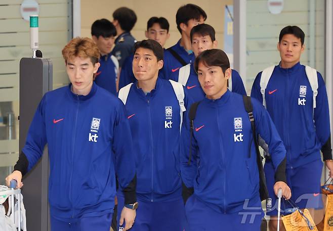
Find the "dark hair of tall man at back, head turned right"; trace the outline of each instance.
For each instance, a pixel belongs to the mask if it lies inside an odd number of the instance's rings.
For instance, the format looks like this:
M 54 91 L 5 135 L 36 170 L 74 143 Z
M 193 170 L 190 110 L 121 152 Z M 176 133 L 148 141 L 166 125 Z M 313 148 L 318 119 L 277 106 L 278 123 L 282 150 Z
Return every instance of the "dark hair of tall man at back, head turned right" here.
M 185 23 L 187 25 L 189 20 L 199 20 L 201 16 L 204 21 L 207 19 L 206 13 L 199 6 L 194 4 L 186 4 L 181 6 L 176 14 L 177 29 L 180 33 L 182 33 L 182 29 L 180 28 L 181 23 Z

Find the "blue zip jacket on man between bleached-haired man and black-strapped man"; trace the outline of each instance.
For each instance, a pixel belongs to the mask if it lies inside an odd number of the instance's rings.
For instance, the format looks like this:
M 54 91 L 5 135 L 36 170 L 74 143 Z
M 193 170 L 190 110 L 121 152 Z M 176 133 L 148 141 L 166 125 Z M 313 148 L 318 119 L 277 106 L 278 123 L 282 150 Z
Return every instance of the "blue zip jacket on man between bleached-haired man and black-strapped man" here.
M 187 108 L 192 102 L 184 93 Z M 137 162 L 137 197 L 154 202 L 180 199 L 180 106 L 171 83 L 158 77 L 155 89 L 145 95 L 135 82 L 125 107 Z

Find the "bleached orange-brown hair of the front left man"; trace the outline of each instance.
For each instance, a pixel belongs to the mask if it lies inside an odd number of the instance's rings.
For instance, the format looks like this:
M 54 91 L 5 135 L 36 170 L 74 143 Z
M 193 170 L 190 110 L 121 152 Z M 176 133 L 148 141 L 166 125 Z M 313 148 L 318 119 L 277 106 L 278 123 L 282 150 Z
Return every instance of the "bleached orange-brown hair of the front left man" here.
M 70 40 L 64 49 L 62 49 L 62 56 L 67 62 L 75 57 L 90 58 L 93 65 L 99 62 L 100 52 L 93 39 L 76 37 Z

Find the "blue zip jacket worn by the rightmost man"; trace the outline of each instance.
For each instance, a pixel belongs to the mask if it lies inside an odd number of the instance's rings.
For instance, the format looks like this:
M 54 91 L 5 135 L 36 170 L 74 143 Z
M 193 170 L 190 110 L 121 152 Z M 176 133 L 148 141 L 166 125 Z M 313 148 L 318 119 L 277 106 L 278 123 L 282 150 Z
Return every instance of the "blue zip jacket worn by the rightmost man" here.
M 263 102 L 260 72 L 252 86 L 251 96 Z M 324 80 L 319 72 L 318 95 L 313 114 L 313 91 L 305 66 L 292 68 L 277 65 L 268 82 L 265 98 L 269 112 L 287 151 L 287 168 L 295 168 L 320 159 L 332 159 L 328 100 Z M 300 88 L 306 86 L 301 97 Z M 305 96 L 305 97 L 303 97 Z M 305 99 L 305 101 L 303 101 Z

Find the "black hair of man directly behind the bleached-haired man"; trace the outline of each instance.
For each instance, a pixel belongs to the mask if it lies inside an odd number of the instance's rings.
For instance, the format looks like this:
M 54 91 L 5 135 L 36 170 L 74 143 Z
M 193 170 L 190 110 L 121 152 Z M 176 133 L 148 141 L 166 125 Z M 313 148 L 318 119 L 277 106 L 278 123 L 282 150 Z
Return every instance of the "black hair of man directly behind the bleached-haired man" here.
M 91 26 L 91 35 L 94 35 L 97 38 L 99 38 L 99 36 L 108 38 L 111 36 L 116 36 L 117 31 L 116 31 L 114 25 L 112 24 L 112 22 L 103 18 L 103 19 L 96 20 L 93 23 L 93 25 Z

